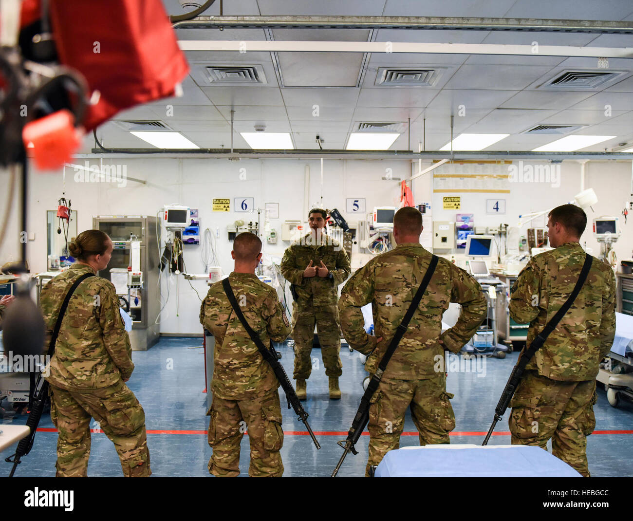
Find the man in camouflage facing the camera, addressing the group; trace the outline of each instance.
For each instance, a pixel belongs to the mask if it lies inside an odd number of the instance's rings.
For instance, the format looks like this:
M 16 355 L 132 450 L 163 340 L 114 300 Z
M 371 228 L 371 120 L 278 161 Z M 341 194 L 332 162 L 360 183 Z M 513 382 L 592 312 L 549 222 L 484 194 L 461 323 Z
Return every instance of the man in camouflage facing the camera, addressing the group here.
M 339 284 L 349 277 L 351 268 L 341 244 L 323 232 L 325 214 L 320 208 L 310 210 L 310 234 L 292 243 L 281 262 L 281 273 L 296 292 L 292 310 L 292 377 L 297 380 L 297 396 L 303 400 L 306 399 L 306 380 L 312 371 L 310 353 L 315 323 L 325 375 L 329 377 L 330 398 L 341 398 L 341 322 L 336 304 Z

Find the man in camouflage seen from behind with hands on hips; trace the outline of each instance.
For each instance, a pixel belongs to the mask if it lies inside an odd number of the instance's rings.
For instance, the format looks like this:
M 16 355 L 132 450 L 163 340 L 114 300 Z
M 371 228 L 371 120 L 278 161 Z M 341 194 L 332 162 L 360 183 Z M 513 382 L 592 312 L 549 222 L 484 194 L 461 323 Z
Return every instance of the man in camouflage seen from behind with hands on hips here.
M 429 268 L 432 254 L 419 243 L 421 232 L 418 210 L 398 210 L 394 216 L 398 247 L 370 260 L 341 292 L 343 335 L 356 351 L 368 355 L 365 369 L 370 374 L 377 370 Z M 462 305 L 461 315 L 442 334 L 442 313 L 451 302 Z M 363 327 L 361 307 L 369 303 L 375 337 Z M 420 445 L 450 443 L 449 432 L 455 427 L 449 401 L 453 394 L 446 392 L 444 369 L 436 371 L 437 357 L 444 359 L 444 349 L 458 353 L 485 316 L 481 286 L 464 270 L 439 258 L 427 291 L 370 400 L 367 474 L 388 451 L 399 448 L 408 407 L 420 432 Z

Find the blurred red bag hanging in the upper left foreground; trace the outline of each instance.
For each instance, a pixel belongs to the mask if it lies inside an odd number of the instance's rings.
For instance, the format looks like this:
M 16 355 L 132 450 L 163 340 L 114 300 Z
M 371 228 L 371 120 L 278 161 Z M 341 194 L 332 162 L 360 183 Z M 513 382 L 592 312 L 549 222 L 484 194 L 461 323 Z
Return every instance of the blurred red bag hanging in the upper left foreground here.
M 60 62 L 101 93 L 85 112 L 88 131 L 120 110 L 173 96 L 189 72 L 160 0 L 51 0 L 49 12 Z

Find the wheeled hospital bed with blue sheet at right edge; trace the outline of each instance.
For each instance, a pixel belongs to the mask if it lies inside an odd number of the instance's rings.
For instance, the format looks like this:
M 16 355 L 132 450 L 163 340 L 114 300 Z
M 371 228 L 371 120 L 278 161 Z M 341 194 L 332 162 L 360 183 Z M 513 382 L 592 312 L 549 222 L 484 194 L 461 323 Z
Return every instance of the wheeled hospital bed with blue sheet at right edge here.
M 596 380 L 605 385 L 606 398 L 617 407 L 623 396 L 633 399 L 633 316 L 615 313 L 615 338 L 608 358 L 600 364 Z

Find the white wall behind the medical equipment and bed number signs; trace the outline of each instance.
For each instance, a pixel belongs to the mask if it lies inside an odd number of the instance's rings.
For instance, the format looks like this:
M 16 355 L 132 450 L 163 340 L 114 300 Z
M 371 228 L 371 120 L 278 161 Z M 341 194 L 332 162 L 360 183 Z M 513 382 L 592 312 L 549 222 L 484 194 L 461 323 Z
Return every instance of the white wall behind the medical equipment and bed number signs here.
M 84 160 L 76 160 L 83 165 Z M 91 160 L 98 165 L 98 160 Z M 156 215 L 167 203 L 180 203 L 199 209 L 201 231 L 209 227 L 215 233 L 219 229 L 218 249 L 220 263 L 225 273 L 232 269 L 230 258 L 231 244 L 227 239 L 227 225 L 242 218 L 248 222 L 256 220 L 256 213 L 220 213 L 211 211 L 211 199 L 230 198 L 232 208 L 234 198 L 254 197 L 256 206 L 263 208 L 264 203 L 278 202 L 280 216 L 272 220 L 271 225 L 281 232 L 281 224 L 287 219 L 306 220 L 304 213 L 304 168 L 310 166 L 309 206 L 321 203 L 320 161 L 303 160 L 201 160 L 170 158 L 122 158 L 104 160 L 104 164 L 125 165 L 129 177 L 145 179 L 146 184 L 127 181 L 125 187 L 103 182 L 75 182 L 75 172 L 66 169 L 66 198 L 72 201 L 72 209 L 78 212 L 78 230 L 92 227 L 95 215 Z M 422 168 L 430 163 L 423 162 Z M 414 169 L 417 171 L 417 161 Z M 241 169 L 244 168 L 244 171 Z M 391 168 L 391 172 L 387 170 Z M 399 205 L 400 182 L 382 180 L 391 173 L 394 178 L 405 179 L 411 175 L 410 161 L 396 160 L 325 160 L 323 173 L 323 206 L 338 208 L 354 226 L 358 215 L 346 213 L 346 198 L 365 198 L 367 210 L 379 205 Z M 456 213 L 475 213 L 476 225 L 492 226 L 499 222 L 515 224 L 520 213 L 545 210 L 551 206 L 564 204 L 573 199 L 580 191 L 580 165 L 564 161 L 561 185 L 553 188 L 540 184 L 516 184 L 511 193 L 506 194 L 506 215 L 486 215 L 485 200 L 487 194 L 461 194 L 461 210 L 442 210 L 442 194 L 431 196 L 432 173 L 415 181 L 413 193 L 416 203 L 432 201 L 434 220 L 454 220 Z M 624 200 L 630 188 L 630 163 L 590 162 L 587 164 L 586 187 L 593 187 L 598 195 L 598 204 L 594 206 L 600 215 L 620 215 Z M 242 179 L 240 174 L 242 173 Z M 244 173 L 246 179 L 244 179 Z M 0 185 L 8 186 L 8 173 L 0 173 Z M 29 190 L 29 232 L 35 232 L 35 241 L 28 242 L 28 259 L 32 272 L 46 270 L 46 210 L 56 209 L 58 198 L 63 190 L 62 174 L 32 172 Z M 6 205 L 6 192 L 0 196 L 0 215 Z M 0 265 L 19 256 L 18 216 L 20 215 L 18 192 L 9 220 L 9 230 L 3 244 L 0 245 Z M 633 215 L 629 224 L 623 225 L 623 234 L 615 244 L 618 259 L 630 258 L 633 249 Z M 261 219 L 263 224 L 263 217 Z M 426 230 L 432 230 L 429 218 L 425 218 Z M 581 241 L 599 252 L 591 230 L 583 235 Z M 288 243 L 280 240 L 275 245 L 264 244 L 264 253 L 280 258 Z M 158 255 L 158 252 L 155 253 Z M 185 245 L 185 263 L 191 273 L 203 272 L 201 246 Z M 163 333 L 199 333 L 199 300 L 182 276 L 171 275 L 163 282 L 163 295 L 166 284 L 170 284 L 170 299 L 161 322 Z M 201 296 L 206 294 L 206 282 L 193 281 Z M 176 288 L 178 291 L 176 291 Z M 176 299 L 176 295 L 178 299 Z M 178 306 L 178 307 L 177 307 Z M 177 316 L 178 315 L 178 316 Z

